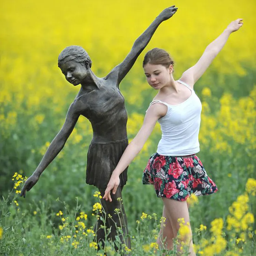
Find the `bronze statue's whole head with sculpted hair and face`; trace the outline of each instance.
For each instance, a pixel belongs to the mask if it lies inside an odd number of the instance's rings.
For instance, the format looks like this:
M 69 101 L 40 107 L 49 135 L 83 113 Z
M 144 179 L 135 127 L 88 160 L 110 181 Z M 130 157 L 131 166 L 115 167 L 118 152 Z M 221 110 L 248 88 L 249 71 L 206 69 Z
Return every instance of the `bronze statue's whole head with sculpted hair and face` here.
M 66 47 L 58 57 L 58 67 L 66 80 L 74 86 L 81 84 L 91 68 L 91 59 L 81 46 Z

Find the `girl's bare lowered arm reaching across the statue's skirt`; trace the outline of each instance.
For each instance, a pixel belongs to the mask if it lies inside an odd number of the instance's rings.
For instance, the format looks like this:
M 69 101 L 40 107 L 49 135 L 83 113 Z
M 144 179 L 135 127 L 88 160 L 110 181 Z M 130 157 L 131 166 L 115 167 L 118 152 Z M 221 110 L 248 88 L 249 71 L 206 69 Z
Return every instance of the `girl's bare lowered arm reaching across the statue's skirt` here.
M 147 138 L 153 131 L 157 120 L 161 116 L 166 115 L 166 112 L 167 107 L 165 105 L 162 105 L 161 103 L 153 104 L 147 110 L 141 129 L 139 130 L 135 138 L 131 141 L 131 143 L 127 146 L 115 170 L 111 175 L 103 199 L 105 199 L 106 201 L 110 200 L 110 202 L 112 201 L 110 192 L 113 189 L 112 193 L 116 193 L 116 189 L 120 183 L 119 175 L 126 169 L 126 167 L 134 159 L 134 157 L 139 154 Z

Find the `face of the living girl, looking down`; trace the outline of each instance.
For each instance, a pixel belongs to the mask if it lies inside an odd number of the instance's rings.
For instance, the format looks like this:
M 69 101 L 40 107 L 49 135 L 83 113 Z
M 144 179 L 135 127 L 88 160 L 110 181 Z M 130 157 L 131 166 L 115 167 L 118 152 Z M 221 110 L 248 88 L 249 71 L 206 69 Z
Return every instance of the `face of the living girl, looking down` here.
M 170 82 L 172 73 L 172 65 L 166 68 L 163 65 L 152 65 L 147 63 L 144 67 L 144 72 L 147 78 L 147 82 L 154 89 L 158 90 L 166 86 Z

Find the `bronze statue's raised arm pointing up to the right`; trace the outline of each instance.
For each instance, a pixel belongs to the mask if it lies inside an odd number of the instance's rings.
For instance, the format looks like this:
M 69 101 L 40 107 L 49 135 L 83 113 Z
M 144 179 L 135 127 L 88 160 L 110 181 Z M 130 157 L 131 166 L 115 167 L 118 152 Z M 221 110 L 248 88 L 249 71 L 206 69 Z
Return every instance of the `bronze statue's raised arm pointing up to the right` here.
M 158 26 L 164 21 L 173 16 L 178 8 L 175 5 L 163 10 L 151 23 L 151 25 L 140 35 L 134 42 L 131 51 L 126 56 L 123 62 L 117 65 L 110 74 L 117 74 L 117 85 L 123 80 L 129 70 L 132 68 L 134 62 L 137 60 L 143 49 L 147 46 Z M 109 75 L 110 75 L 109 74 Z

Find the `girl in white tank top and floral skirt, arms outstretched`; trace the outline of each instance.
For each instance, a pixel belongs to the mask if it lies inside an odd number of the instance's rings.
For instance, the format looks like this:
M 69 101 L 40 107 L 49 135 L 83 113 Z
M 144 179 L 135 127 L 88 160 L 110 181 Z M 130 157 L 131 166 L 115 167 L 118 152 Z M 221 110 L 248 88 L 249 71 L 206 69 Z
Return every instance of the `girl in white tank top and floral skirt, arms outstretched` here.
M 159 91 L 146 111 L 140 131 L 128 145 L 113 171 L 103 199 L 112 201 L 111 196 L 119 186 L 119 175 L 141 151 L 158 121 L 162 138 L 157 152 L 148 160 L 142 182 L 153 184 L 157 197 L 163 200 L 162 216 L 166 218 L 166 223 L 161 225 L 157 243 L 162 246 L 162 241 L 165 240 L 168 249 L 172 248 L 172 239 L 177 236 L 180 227 L 178 219 L 184 218 L 185 223 L 189 223 L 186 199 L 192 193 L 203 196 L 218 191 L 196 156 L 199 152 L 198 134 L 202 105 L 195 94 L 194 84 L 221 51 L 229 35 L 242 25 L 242 19 L 231 22 L 223 33 L 206 47 L 196 65 L 186 70 L 177 81 L 172 76 L 174 62 L 166 51 L 154 48 L 146 53 L 143 60 L 148 84 Z M 196 255 L 191 228 L 190 234 L 183 240 L 187 241 L 188 238 L 189 253 Z

